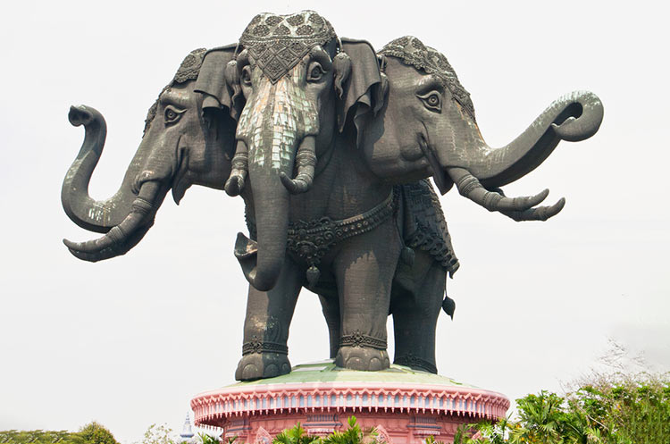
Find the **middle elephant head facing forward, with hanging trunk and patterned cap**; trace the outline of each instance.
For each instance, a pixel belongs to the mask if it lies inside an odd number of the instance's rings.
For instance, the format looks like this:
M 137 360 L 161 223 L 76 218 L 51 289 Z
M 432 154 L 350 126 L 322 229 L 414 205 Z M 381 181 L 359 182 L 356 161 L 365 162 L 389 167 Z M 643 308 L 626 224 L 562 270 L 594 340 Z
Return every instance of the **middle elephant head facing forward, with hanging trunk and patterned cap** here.
M 239 237 L 236 255 L 261 291 L 275 285 L 286 255 L 289 199 L 310 189 L 349 111 L 370 105 L 381 86 L 372 47 L 343 43 L 318 13 L 255 16 L 226 68 L 239 113 L 237 147 L 226 191 L 253 196 L 253 241 Z M 295 177 L 294 177 L 295 172 Z

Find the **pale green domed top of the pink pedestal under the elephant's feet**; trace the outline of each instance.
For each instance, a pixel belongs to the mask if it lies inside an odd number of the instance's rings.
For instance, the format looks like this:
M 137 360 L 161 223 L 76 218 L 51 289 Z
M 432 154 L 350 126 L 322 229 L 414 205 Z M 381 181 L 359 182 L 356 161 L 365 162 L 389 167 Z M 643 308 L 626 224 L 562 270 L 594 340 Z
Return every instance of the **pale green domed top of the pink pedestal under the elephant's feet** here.
M 404 365 L 391 364 L 380 372 L 359 372 L 337 367 L 332 359 L 296 365 L 291 373 L 257 381 L 243 381 L 228 387 L 249 387 L 265 384 L 290 384 L 297 382 L 399 382 L 408 384 L 436 384 L 475 388 L 473 385 L 454 381 L 447 376 L 412 370 Z

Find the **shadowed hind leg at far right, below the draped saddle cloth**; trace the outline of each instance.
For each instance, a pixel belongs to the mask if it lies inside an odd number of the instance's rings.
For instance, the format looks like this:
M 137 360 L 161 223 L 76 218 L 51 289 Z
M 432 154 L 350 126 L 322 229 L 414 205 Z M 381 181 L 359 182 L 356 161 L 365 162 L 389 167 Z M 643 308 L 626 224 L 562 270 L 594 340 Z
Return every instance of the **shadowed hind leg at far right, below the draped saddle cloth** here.
M 398 289 L 398 294 L 394 288 L 391 301 L 396 340 L 393 364 L 437 373 L 435 329 L 442 307 L 447 274 L 425 252 L 417 252 L 411 274 L 412 279 L 404 280 L 403 288 Z

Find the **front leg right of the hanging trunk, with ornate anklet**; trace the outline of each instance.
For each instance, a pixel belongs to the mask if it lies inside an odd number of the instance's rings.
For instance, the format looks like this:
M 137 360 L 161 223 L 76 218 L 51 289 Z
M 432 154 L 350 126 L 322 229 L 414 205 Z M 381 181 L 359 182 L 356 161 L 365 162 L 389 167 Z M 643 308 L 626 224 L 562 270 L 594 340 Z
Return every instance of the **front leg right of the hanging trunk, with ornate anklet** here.
M 342 313 L 335 364 L 352 370 L 389 368 L 386 320 L 401 242 L 394 221 L 348 239 L 334 269 Z

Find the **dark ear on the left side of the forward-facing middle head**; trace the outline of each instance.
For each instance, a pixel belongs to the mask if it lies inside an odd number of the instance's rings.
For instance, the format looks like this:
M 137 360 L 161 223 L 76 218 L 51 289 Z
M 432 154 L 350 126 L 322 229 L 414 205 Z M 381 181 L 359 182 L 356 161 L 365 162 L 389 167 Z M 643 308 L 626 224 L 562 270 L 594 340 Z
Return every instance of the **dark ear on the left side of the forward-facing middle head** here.
M 236 45 L 220 46 L 205 54 L 200 74 L 194 90 L 203 95 L 203 115 L 216 115 L 214 121 L 222 122 L 223 131 L 235 134 L 239 105 L 235 105 L 235 95 L 226 82 L 225 69 L 235 58 Z M 235 144 L 226 147 L 226 154 L 232 158 Z

